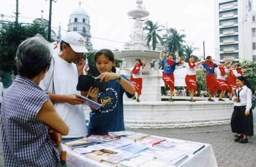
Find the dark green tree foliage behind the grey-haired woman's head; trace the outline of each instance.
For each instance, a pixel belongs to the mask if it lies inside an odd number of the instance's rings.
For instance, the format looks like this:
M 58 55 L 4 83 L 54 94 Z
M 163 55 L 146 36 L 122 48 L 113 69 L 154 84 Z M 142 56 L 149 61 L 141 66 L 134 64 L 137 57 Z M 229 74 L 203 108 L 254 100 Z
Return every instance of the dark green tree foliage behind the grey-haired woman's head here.
M 29 37 L 37 33 L 47 38 L 45 27 L 39 24 L 22 24 L 10 22 L 3 24 L 0 31 L 0 71 L 17 75 L 15 56 L 18 45 Z M 7 79 L 2 75 L 3 80 Z M 7 85 L 8 86 L 8 85 Z

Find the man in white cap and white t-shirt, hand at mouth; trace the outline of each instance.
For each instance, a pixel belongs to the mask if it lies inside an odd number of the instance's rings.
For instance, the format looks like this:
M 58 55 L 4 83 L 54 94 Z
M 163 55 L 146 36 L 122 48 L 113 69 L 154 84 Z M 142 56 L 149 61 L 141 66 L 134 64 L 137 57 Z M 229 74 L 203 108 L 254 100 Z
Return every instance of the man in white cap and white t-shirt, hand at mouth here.
M 86 117 L 83 111 L 85 100 L 75 97 L 78 76 L 83 74 L 83 54 L 88 52 L 85 40 L 77 32 L 67 32 L 60 42 L 60 53 L 53 56 L 49 71 L 40 87 L 48 92 L 60 117 L 69 126 L 69 134 L 63 140 L 87 135 Z

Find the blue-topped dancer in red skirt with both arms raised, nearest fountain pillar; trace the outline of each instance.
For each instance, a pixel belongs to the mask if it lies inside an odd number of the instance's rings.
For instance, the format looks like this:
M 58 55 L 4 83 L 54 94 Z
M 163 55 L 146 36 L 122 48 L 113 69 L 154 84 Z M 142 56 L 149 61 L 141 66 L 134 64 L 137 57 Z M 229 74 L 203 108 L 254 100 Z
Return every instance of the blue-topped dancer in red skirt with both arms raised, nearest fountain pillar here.
M 173 55 L 168 55 L 167 60 L 163 58 L 163 52 L 162 50 L 160 52 L 159 59 L 163 62 L 164 66 L 164 72 L 163 72 L 163 81 L 164 85 L 169 85 L 170 86 L 170 102 L 173 102 L 172 97 L 173 97 L 173 90 L 174 90 L 174 75 L 173 72 L 175 70 L 176 64 L 180 63 L 183 60 L 183 57 L 179 59 L 178 61 L 173 60 Z

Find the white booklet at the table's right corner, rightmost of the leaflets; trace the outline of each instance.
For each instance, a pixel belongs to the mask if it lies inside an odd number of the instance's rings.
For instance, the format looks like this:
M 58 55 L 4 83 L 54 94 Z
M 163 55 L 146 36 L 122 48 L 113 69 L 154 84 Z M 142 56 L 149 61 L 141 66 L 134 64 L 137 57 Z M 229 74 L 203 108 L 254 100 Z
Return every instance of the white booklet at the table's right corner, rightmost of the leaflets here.
M 198 151 L 200 151 L 204 147 L 205 147 L 204 144 L 185 141 L 183 143 L 177 144 L 172 149 L 181 150 L 188 154 L 196 154 Z

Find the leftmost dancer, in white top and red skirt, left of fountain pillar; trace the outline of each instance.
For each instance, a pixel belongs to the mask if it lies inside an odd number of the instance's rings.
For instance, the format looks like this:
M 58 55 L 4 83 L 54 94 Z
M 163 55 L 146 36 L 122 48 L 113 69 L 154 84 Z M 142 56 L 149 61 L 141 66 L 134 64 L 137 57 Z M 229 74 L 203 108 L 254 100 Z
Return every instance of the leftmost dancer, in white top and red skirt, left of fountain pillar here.
M 124 70 L 131 71 L 131 84 L 135 87 L 135 90 L 137 92 L 137 102 L 140 102 L 139 97 L 141 95 L 141 89 L 142 89 L 142 70 L 145 67 L 146 60 L 143 60 L 141 63 L 140 59 L 136 59 L 135 66 L 131 68 L 125 68 Z M 136 99 L 134 95 L 134 99 Z

